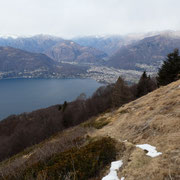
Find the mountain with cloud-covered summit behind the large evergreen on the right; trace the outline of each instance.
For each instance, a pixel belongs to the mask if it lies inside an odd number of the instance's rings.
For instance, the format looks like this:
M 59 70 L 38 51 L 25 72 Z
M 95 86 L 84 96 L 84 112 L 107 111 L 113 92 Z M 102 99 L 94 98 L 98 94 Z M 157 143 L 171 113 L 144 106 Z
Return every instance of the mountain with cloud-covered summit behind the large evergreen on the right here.
M 120 69 L 157 71 L 167 54 L 180 48 L 180 37 L 160 34 L 146 37 L 133 44 L 121 47 L 109 58 L 107 66 Z

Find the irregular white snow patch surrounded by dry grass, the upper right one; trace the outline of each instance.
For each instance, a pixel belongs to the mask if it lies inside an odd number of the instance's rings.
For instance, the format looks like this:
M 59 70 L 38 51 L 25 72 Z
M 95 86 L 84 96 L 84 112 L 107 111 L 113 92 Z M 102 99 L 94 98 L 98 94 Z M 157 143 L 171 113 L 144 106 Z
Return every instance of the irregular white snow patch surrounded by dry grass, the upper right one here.
M 146 155 L 150 157 L 157 157 L 162 154 L 161 152 L 156 151 L 156 147 L 151 146 L 149 144 L 139 144 L 139 145 L 136 145 L 136 147 L 148 151 Z

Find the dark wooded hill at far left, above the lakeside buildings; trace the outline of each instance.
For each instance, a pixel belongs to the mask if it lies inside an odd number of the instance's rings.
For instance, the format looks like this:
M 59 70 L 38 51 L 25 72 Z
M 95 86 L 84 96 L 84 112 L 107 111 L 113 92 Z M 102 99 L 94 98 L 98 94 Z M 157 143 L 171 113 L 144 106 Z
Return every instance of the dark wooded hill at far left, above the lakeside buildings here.
M 32 71 L 53 68 L 55 62 L 46 55 L 12 47 L 0 47 L 0 71 Z

